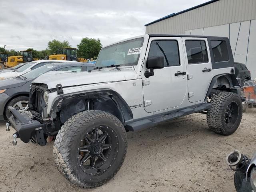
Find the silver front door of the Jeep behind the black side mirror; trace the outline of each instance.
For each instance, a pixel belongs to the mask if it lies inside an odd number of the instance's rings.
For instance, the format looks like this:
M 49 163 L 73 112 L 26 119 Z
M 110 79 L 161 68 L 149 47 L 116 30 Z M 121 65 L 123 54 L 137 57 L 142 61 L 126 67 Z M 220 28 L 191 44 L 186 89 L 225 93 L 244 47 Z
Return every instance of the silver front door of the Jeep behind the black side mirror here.
M 146 78 L 142 73 L 144 108 L 156 112 L 178 107 L 186 95 L 186 63 L 183 57 L 182 38 L 150 38 L 147 58 L 164 56 L 164 68 L 155 69 L 154 76 Z M 143 68 L 146 68 L 144 64 Z

